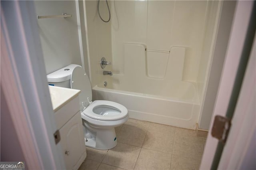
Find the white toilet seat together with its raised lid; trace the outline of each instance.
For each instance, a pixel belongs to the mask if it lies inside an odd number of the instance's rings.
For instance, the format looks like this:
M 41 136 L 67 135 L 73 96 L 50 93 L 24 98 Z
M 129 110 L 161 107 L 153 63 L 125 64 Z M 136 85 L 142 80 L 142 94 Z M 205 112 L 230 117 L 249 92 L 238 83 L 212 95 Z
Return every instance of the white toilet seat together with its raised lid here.
M 97 121 L 117 121 L 127 117 L 128 110 L 119 103 L 105 100 L 92 102 L 92 87 L 82 67 L 74 68 L 70 80 L 71 89 L 81 90 L 79 94 L 81 115 Z

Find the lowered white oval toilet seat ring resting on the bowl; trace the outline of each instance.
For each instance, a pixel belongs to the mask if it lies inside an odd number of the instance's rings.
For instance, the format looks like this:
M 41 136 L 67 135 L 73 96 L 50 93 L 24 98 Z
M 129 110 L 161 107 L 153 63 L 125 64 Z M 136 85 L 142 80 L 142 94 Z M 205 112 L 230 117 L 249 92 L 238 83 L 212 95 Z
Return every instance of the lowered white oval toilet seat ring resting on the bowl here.
M 128 110 L 116 102 L 96 100 L 82 114 L 101 121 L 115 121 L 127 117 Z

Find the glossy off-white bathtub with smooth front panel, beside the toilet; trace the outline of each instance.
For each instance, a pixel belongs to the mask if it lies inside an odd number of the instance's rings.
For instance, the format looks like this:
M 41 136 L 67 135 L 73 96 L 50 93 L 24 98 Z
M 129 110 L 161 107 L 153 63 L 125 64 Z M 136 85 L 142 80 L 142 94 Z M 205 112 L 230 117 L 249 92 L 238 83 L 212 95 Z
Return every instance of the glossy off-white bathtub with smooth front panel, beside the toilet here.
M 130 118 L 182 128 L 196 127 L 200 105 L 171 99 L 98 87 L 92 89 L 93 100 L 109 100 L 124 105 Z

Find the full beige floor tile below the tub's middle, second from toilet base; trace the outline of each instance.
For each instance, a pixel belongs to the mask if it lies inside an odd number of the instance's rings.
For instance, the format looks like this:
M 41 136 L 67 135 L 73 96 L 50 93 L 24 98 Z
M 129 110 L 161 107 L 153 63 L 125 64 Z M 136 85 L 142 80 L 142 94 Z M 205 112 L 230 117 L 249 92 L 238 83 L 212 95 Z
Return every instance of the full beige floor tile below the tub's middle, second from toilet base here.
M 175 127 L 150 123 L 142 148 L 172 153 Z

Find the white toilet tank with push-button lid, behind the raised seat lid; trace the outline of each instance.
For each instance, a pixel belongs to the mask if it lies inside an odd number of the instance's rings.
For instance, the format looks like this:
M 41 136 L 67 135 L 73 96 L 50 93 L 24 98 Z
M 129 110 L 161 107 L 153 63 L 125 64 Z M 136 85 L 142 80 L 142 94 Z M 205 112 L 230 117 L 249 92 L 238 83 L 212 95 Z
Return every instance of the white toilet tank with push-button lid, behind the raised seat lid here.
M 49 85 L 70 88 L 70 78 L 75 67 L 81 67 L 77 64 L 70 64 L 64 68 L 54 71 L 47 75 Z

